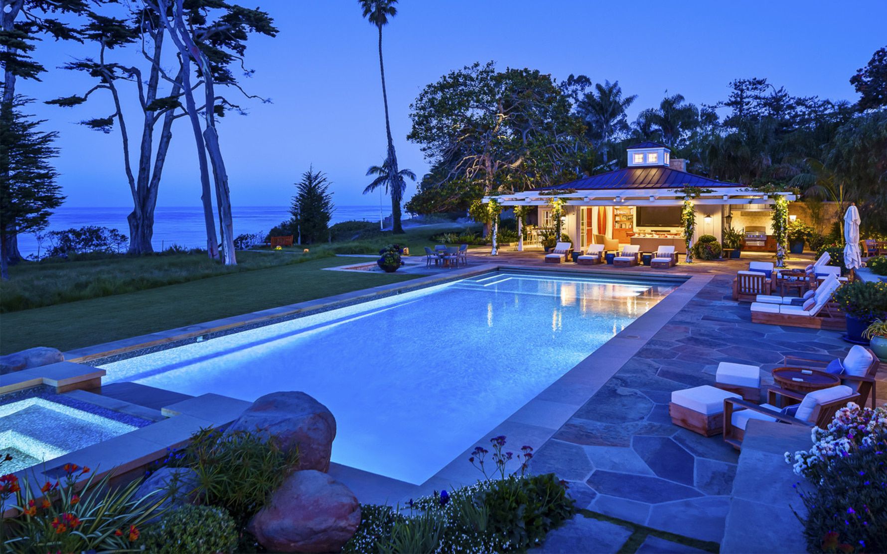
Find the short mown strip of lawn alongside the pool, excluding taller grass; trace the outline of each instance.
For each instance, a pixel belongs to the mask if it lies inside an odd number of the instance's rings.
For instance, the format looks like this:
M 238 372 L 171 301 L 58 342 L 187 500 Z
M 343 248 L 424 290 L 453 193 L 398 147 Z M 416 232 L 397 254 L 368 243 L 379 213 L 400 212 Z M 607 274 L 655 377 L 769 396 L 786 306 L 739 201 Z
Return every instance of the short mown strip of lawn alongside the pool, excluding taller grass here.
M 326 257 L 3 314 L 0 354 L 36 346 L 87 347 L 417 277 L 323 270 L 347 263 Z

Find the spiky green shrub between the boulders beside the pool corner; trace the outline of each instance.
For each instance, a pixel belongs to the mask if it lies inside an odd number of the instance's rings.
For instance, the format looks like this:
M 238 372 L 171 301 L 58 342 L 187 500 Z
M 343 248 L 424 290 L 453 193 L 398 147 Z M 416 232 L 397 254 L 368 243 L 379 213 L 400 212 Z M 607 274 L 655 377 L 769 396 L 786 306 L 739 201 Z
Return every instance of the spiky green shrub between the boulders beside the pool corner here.
M 222 506 L 239 525 L 262 509 L 298 462 L 298 454 L 255 433 L 201 429 L 167 462 L 197 472 L 202 503 Z

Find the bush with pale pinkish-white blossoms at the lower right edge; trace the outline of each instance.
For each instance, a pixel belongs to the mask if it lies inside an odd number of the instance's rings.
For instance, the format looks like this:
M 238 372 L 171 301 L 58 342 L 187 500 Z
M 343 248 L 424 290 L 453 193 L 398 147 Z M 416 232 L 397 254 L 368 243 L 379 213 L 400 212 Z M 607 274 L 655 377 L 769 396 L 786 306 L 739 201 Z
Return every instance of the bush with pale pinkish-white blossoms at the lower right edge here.
M 812 439 L 809 451 L 786 453 L 815 487 L 799 493 L 808 550 L 887 551 L 887 409 L 850 402 Z

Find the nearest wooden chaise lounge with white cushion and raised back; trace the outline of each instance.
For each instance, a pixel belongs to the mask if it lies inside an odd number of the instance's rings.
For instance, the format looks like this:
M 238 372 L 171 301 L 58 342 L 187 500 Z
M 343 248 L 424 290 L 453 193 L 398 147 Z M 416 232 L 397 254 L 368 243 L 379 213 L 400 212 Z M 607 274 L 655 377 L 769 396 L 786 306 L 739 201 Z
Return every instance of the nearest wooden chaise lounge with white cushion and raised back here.
M 751 304 L 751 321 L 756 324 L 843 331 L 847 328 L 847 320 L 831 304 L 832 295 L 840 285 L 837 277 L 828 276 L 817 289 L 822 291 L 805 300 L 801 306 L 754 302 Z

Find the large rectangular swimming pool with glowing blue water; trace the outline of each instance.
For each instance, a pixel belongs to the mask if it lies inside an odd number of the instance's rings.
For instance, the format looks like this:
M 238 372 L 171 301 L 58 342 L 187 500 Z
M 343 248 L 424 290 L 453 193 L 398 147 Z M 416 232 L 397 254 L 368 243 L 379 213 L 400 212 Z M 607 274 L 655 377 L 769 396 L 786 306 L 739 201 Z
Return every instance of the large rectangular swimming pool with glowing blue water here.
M 419 484 L 622 331 L 674 281 L 496 271 L 107 363 L 105 383 L 333 412 L 333 461 Z

